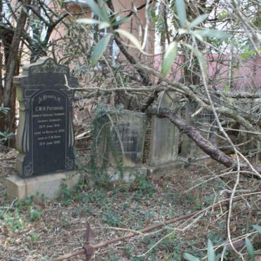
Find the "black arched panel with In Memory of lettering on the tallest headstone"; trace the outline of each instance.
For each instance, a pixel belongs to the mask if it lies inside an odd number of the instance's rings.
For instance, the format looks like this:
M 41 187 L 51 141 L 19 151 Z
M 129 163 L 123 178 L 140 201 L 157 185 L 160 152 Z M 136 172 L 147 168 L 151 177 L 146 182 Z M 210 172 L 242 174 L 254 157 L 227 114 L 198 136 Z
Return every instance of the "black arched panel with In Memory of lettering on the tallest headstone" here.
M 32 99 L 32 162 L 36 172 L 44 168 L 46 172 L 65 168 L 66 105 L 65 95 L 58 91 L 41 91 Z M 46 162 L 53 164 L 46 166 Z

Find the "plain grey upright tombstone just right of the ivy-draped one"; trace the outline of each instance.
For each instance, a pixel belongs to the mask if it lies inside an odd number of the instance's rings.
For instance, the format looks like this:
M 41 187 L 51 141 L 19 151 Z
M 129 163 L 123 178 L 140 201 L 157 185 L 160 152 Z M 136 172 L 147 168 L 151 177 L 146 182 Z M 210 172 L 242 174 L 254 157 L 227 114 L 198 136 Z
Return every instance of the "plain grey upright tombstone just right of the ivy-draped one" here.
M 175 109 L 173 92 L 161 92 L 157 107 Z M 178 142 L 180 132 L 169 119 L 159 119 L 152 116 L 151 145 L 149 164 L 152 166 L 175 161 L 178 157 Z

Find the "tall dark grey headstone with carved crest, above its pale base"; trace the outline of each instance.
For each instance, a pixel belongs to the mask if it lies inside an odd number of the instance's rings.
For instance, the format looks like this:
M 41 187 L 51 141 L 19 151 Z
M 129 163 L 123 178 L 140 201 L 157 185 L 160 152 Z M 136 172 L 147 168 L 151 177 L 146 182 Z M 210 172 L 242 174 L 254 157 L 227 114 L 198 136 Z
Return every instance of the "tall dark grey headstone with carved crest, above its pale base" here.
M 69 68 L 44 57 L 14 77 L 19 101 L 17 170 L 22 178 L 74 170 L 72 89 Z

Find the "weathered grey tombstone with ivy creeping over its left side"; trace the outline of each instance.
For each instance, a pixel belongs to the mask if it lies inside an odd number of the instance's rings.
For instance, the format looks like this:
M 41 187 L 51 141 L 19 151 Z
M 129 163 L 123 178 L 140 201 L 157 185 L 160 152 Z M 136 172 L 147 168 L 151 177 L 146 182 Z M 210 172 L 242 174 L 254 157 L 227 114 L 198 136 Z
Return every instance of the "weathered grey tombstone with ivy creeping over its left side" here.
M 131 180 L 135 173 L 146 173 L 142 168 L 147 116 L 145 113 L 128 111 L 112 114 L 107 128 L 100 137 L 100 159 L 107 159 L 107 173 L 111 180 Z M 133 176 L 134 178 L 134 176 Z

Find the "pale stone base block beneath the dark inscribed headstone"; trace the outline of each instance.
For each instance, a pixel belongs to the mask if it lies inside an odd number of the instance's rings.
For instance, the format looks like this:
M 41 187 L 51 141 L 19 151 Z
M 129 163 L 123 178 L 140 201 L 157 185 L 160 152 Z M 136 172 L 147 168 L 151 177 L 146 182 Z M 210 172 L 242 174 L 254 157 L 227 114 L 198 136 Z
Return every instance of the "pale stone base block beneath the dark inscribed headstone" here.
M 6 193 L 9 198 L 25 199 L 36 196 L 55 199 L 60 195 L 60 185 L 65 183 L 71 189 L 79 180 L 76 171 L 55 173 L 33 178 L 20 178 L 14 175 L 6 178 Z

